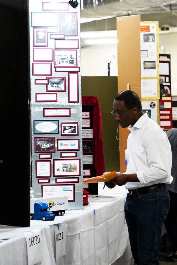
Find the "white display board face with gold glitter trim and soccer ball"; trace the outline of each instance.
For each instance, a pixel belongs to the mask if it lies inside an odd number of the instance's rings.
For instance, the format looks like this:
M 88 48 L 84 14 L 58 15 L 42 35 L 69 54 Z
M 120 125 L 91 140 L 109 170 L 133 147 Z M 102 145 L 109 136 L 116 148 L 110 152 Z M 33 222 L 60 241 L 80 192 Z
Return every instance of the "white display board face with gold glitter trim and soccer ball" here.
M 160 125 L 158 21 L 140 24 L 142 110 Z

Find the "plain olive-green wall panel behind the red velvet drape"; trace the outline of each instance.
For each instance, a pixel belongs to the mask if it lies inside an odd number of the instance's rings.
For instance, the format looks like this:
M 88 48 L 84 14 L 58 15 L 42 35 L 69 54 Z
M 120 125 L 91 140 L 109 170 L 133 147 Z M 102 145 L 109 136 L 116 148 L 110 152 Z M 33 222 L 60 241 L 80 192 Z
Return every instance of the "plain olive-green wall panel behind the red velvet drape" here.
M 112 105 L 117 95 L 117 77 L 84 76 L 81 77 L 82 96 L 96 96 L 99 99 L 104 163 L 106 172 L 119 171 L 119 143 L 116 140 L 117 122 L 111 114 Z

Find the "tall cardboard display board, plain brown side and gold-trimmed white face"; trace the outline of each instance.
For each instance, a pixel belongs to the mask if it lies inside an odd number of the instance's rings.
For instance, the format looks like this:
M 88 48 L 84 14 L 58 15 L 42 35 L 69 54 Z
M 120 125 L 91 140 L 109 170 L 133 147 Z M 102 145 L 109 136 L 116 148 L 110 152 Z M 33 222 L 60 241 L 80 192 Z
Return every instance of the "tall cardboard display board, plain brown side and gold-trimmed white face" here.
M 117 17 L 117 40 L 118 93 L 136 92 L 143 112 L 159 124 L 158 21 L 140 23 L 140 15 Z M 129 133 L 119 126 L 121 173 L 126 171 L 124 150 Z

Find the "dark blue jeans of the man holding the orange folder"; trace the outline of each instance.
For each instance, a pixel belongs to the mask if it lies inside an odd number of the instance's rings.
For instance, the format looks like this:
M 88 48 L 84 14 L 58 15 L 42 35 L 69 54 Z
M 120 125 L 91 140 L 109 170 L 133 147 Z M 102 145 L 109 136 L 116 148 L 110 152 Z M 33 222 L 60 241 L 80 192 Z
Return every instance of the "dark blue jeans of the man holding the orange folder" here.
M 170 206 L 167 188 L 127 194 L 124 212 L 132 256 L 139 265 L 159 265 L 158 246 Z

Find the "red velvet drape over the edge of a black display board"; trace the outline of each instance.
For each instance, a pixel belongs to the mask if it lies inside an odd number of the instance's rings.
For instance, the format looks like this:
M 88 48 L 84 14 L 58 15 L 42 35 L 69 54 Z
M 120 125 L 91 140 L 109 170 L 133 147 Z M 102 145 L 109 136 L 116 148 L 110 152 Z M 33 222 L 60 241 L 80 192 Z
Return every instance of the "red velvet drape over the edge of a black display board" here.
M 93 162 L 96 170 L 96 176 L 103 175 L 105 172 L 103 138 L 101 133 L 101 112 L 99 107 L 99 99 L 96 96 L 82 96 L 83 106 L 94 106 L 93 111 Z

